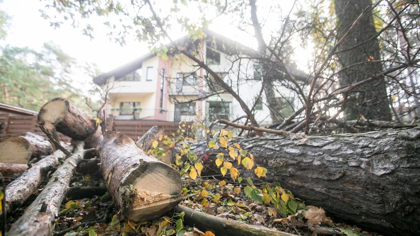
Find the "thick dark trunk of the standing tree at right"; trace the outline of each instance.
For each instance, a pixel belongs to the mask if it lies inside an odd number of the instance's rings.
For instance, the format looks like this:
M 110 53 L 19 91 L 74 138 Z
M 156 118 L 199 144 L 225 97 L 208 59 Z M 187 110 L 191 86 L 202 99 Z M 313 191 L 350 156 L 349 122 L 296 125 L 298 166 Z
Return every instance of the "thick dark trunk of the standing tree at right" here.
M 338 17 L 338 38 L 343 36 L 353 22 L 364 15 L 338 46 L 339 73 L 341 86 L 348 86 L 382 72 L 381 53 L 373 15 L 372 0 L 336 0 L 335 11 Z M 372 39 L 374 38 L 374 39 Z M 348 120 L 364 116 L 369 120 L 391 120 L 391 110 L 386 92 L 385 79 L 368 83 L 364 89 L 345 94 L 345 112 Z

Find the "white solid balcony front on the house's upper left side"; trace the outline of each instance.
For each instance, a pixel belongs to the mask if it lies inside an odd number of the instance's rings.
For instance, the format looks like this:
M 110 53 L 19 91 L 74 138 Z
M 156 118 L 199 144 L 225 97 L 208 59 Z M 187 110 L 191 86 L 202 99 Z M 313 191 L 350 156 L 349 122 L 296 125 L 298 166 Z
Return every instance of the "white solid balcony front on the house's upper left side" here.
M 116 81 L 110 89 L 110 94 L 145 94 L 154 93 L 156 84 L 152 81 Z

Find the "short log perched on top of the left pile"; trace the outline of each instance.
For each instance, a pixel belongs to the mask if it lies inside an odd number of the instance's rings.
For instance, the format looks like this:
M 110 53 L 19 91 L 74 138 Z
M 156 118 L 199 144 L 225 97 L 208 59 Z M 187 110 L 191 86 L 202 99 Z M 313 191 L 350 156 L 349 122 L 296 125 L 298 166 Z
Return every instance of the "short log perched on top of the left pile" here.
M 102 134 L 93 118 L 64 98 L 45 103 L 38 113 L 38 124 L 47 130 L 56 130 L 75 140 L 87 140 L 86 147 L 96 147 Z

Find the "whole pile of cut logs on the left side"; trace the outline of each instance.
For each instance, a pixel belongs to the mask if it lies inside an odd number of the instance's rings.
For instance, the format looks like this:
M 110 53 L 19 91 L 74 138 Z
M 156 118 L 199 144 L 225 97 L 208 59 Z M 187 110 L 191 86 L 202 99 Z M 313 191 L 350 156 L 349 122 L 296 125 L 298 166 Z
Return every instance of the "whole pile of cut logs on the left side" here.
M 68 100 L 55 98 L 47 102 L 38 114 L 38 124 L 54 145 L 30 133 L 0 142 L 0 156 L 5 162 L 0 163 L 0 171 L 7 176 L 20 173 L 5 191 L 8 213 L 26 203 L 41 182 L 49 178 L 8 235 L 52 234 L 73 174 L 99 173 L 100 169 L 107 190 L 131 220 L 159 217 L 181 201 L 181 178 L 176 169 L 144 153 L 123 134 L 105 132 L 103 136 L 96 121 Z M 55 132 L 71 137 L 72 145 L 60 144 Z M 153 137 L 146 136 L 142 142 L 149 145 Z M 57 145 L 60 150 L 53 152 Z M 35 157 L 40 160 L 30 162 Z M 103 193 L 101 187 L 74 187 L 67 199 Z

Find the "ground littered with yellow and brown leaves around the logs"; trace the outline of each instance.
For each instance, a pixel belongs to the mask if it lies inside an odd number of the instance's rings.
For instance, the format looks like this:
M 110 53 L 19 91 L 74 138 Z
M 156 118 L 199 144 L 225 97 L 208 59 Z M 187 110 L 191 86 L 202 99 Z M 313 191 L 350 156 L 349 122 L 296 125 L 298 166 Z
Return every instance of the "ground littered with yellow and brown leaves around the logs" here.
M 237 188 L 224 181 L 217 179 L 201 179 L 208 191 L 201 191 L 191 180 L 184 182 L 184 198 L 182 205 L 194 210 L 205 212 L 255 224 L 296 235 L 380 235 L 374 232 L 363 231 L 355 225 L 333 222 L 325 215 L 323 209 L 313 208 L 313 220 L 319 220 L 320 224 L 309 223 L 302 214 L 295 214 L 288 218 L 277 215 L 277 211 L 270 205 L 256 203 L 245 196 Z M 196 181 L 195 181 L 196 183 Z M 104 191 L 104 183 L 98 172 L 95 174 L 73 176 L 71 188 L 95 187 L 87 189 L 83 194 L 67 196 L 56 218 L 54 235 L 213 235 L 211 232 L 202 232 L 183 222 L 182 215 L 168 212 L 164 216 L 143 222 L 133 222 L 125 219 L 118 211 L 111 196 Z M 40 186 L 39 192 L 43 186 Z M 101 191 L 98 191 L 101 190 Z M 103 194 L 104 193 L 104 194 Z M 97 196 L 99 195 L 99 196 Z M 8 228 L 11 223 L 21 214 L 35 199 L 36 194 L 20 207 L 13 215 L 9 216 Z M 85 197 L 85 198 L 82 198 Z

